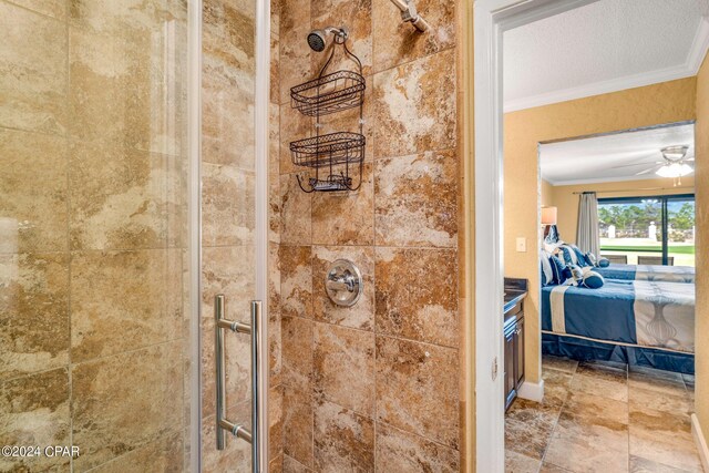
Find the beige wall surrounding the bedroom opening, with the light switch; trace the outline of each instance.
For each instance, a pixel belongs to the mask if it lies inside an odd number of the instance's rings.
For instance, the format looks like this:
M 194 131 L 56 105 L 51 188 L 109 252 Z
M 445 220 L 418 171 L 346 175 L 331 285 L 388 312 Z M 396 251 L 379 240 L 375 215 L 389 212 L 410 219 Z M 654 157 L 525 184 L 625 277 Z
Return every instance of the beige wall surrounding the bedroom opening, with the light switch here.
M 590 96 L 505 114 L 504 172 L 505 274 L 540 287 L 540 142 L 584 136 L 695 119 L 696 78 Z M 515 238 L 527 239 L 527 251 L 515 251 Z M 538 382 L 540 292 L 532 290 L 525 310 L 526 377 Z

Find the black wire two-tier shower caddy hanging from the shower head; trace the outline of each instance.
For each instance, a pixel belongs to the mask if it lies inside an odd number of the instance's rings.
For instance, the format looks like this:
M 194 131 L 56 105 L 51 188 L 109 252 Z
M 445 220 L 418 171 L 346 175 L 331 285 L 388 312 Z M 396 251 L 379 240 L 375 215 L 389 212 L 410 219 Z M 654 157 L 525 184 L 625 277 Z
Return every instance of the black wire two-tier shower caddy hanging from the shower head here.
M 326 74 L 338 45 L 359 72 L 337 71 Z M 306 116 L 315 119 L 315 136 L 290 143 L 292 163 L 315 169 L 306 185 L 298 178 L 304 192 L 357 191 L 362 183 L 366 138 L 362 134 L 364 103 L 362 63 L 347 47 L 347 37 L 336 37 L 330 56 L 317 79 L 290 89 L 290 104 Z M 320 117 L 359 106 L 359 133 L 336 132 L 320 134 Z M 359 182 L 353 184 L 351 172 L 359 167 Z M 357 176 L 354 176 L 357 177 Z

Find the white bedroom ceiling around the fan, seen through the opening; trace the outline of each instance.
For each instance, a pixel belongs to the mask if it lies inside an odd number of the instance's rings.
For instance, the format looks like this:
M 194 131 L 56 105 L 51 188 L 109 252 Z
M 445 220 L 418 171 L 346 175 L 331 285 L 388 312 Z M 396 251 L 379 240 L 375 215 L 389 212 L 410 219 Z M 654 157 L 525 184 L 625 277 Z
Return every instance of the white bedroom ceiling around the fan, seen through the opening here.
M 657 178 L 636 173 L 662 160 L 660 148 L 687 145 L 695 155 L 695 125 L 665 126 L 636 132 L 569 140 L 540 146 L 542 177 L 554 185 Z M 626 164 L 637 166 L 615 168 Z

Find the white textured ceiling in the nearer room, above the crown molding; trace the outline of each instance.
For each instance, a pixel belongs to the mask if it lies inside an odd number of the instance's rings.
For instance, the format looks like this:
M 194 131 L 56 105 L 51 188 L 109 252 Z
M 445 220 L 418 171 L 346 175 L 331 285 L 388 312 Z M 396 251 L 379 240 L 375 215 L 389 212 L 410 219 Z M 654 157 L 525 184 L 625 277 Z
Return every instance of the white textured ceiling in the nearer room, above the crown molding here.
M 695 75 L 709 0 L 599 0 L 504 33 L 505 110 Z

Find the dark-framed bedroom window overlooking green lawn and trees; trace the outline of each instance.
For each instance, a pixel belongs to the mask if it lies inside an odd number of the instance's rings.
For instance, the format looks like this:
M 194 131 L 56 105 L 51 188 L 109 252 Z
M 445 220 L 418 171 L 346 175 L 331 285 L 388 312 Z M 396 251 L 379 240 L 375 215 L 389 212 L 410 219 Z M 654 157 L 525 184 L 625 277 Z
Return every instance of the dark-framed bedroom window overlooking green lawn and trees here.
M 695 196 L 599 198 L 600 254 L 629 265 L 695 266 Z

